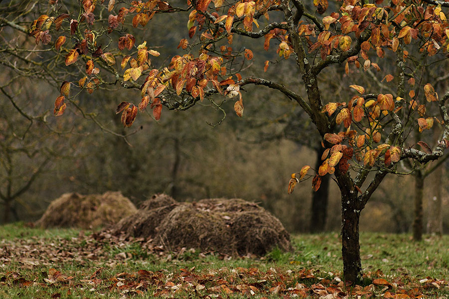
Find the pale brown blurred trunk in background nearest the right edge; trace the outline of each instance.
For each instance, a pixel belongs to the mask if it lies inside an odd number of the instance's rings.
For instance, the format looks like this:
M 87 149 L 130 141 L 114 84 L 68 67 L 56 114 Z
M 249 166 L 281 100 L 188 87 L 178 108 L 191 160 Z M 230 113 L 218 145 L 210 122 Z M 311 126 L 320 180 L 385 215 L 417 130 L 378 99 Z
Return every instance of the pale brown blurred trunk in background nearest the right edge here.
M 432 191 L 429 198 L 429 220 L 427 222 L 427 232 L 432 235 L 441 236 L 443 234 L 443 217 L 442 217 L 442 187 L 443 187 L 443 166 L 440 165 L 431 174 Z

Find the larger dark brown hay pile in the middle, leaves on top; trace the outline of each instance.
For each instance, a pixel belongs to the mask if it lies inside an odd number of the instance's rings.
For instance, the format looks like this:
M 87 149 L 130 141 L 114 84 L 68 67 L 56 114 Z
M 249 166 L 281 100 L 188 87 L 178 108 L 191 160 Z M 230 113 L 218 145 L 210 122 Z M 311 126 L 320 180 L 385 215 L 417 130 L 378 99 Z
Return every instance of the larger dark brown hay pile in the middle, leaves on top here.
M 232 255 L 265 255 L 278 247 L 291 250 L 290 236 L 280 221 L 254 203 L 242 199 L 203 199 L 176 202 L 154 195 L 134 215 L 109 231 L 126 238 L 153 239 L 169 250 L 199 248 Z

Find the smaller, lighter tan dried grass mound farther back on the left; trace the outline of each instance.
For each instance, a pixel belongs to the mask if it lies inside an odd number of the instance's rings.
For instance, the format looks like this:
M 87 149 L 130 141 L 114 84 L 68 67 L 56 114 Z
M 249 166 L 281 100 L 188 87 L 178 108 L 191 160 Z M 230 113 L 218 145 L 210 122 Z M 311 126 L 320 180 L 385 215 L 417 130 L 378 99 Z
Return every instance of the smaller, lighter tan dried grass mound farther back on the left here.
M 121 192 L 80 195 L 65 193 L 48 206 L 36 225 L 47 227 L 103 227 L 137 212 Z

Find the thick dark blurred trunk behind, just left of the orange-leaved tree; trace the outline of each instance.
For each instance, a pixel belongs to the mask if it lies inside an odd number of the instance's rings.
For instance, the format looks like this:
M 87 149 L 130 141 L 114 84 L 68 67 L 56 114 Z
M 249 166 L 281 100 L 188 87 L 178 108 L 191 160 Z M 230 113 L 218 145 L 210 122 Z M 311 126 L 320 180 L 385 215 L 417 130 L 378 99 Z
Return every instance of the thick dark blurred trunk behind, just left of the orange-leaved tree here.
M 321 155 L 324 152 L 324 148 L 319 145 L 316 150 L 317 158 L 315 163 L 315 169 L 318 169 L 322 163 Z M 312 193 L 312 213 L 310 216 L 310 232 L 317 233 L 324 231 L 326 227 L 327 219 L 327 204 L 329 202 L 329 182 L 330 175 L 321 177 L 320 188 Z

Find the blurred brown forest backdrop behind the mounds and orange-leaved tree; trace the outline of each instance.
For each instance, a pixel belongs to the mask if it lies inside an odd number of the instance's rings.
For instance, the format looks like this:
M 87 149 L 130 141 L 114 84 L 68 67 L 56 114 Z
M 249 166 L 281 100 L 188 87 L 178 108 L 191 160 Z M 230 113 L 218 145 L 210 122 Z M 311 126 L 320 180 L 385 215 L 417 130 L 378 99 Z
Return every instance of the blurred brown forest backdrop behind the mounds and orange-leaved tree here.
M 26 3 L 21 7 L 26 7 Z M 20 9 L 4 11 L 2 18 L 10 20 L 14 13 L 20 13 Z M 39 14 L 38 9 L 29 13 L 31 20 Z M 185 19 L 158 15 L 151 21 L 151 26 L 136 29 L 134 33 L 136 39 L 147 40 L 151 48 L 161 53 L 158 61 L 162 64 L 173 55 L 184 53 L 177 49 L 179 40 L 185 37 L 184 32 L 174 28 L 184 26 L 187 19 L 188 15 Z M 304 121 L 306 117 L 300 108 L 287 98 L 279 98 L 263 88 L 248 87 L 245 90 L 248 100 L 241 119 L 233 113 L 232 101 L 222 106 L 223 111 L 205 101 L 183 112 L 163 109 L 160 121 L 148 114 L 138 118 L 131 129 L 124 129 L 115 108 L 131 97 L 132 92 L 112 86 L 92 95 L 79 94 L 79 106 L 84 110 L 70 107 L 63 117 L 55 118 L 52 109 L 59 86 L 37 72 L 25 73 L 15 68 L 16 60 L 20 59 L 5 50 L 14 44 L 23 46 L 34 41 L 26 34 L 15 36 L 5 23 L 1 23 L 0 28 L 0 62 L 3 65 L 0 74 L 0 197 L 3 213 L 0 217 L 3 222 L 34 221 L 53 199 L 65 192 L 89 194 L 119 190 L 135 204 L 161 192 L 179 201 L 242 198 L 265 207 L 290 232 L 313 230 L 310 224 L 311 182 L 299 184 L 292 195 L 287 195 L 287 182 L 290 173 L 305 163 L 314 167 L 317 155 L 320 156 L 320 139 L 313 126 Z M 265 52 L 263 45 L 259 49 L 254 46 L 252 50 L 253 65 L 242 72 L 263 74 L 263 61 L 270 60 L 274 62 L 267 70 L 270 76 L 299 84 L 301 78 L 295 77 L 288 67 L 294 63 L 293 59 L 282 61 L 280 65 L 278 62 L 283 59 L 275 53 Z M 27 55 L 40 55 L 42 61 L 46 59 L 45 52 Z M 379 64 L 382 72 L 376 74 L 370 70 L 364 73 L 365 82 L 359 84 L 368 88 L 378 85 L 379 91 L 388 92 L 388 87 L 381 82 L 388 73 L 388 62 L 382 63 L 384 65 Z M 341 65 L 322 76 L 320 87 L 325 90 L 326 102 L 349 100 L 349 83 L 343 69 L 344 65 Z M 351 71 L 363 72 L 354 66 Z M 428 76 L 439 78 L 444 75 L 439 73 L 442 71 L 429 71 Z M 439 82 L 446 84 L 445 80 Z M 251 98 L 258 101 L 251 101 Z M 432 138 L 432 134 L 438 135 L 438 132 L 429 133 L 428 138 Z M 448 178 L 445 164 L 429 175 L 423 206 L 424 223 L 427 224 L 434 217 L 429 216 L 432 210 L 429 207 L 437 196 L 442 200 L 443 231 L 446 233 L 449 232 Z M 413 190 L 413 176 L 387 176 L 364 209 L 360 229 L 411 231 Z M 328 195 L 328 202 L 323 203 L 327 212 L 324 230 L 339 231 L 340 194 L 332 180 Z

